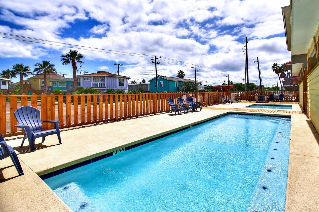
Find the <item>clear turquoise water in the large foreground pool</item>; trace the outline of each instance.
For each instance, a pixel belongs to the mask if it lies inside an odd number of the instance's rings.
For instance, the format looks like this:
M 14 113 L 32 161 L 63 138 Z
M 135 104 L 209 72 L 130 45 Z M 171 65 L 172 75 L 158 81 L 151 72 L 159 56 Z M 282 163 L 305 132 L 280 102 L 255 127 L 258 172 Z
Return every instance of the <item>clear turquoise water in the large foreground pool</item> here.
M 73 211 L 284 211 L 290 123 L 228 114 L 44 181 Z

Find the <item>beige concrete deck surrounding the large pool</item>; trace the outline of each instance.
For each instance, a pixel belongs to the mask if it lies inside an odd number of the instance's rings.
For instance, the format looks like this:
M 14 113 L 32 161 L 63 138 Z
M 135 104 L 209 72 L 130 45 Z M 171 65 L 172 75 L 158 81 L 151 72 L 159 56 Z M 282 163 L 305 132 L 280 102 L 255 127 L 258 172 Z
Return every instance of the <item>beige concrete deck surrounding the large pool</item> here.
M 286 211 L 318 211 L 319 136 L 308 117 L 299 113 L 277 114 L 225 108 L 218 110 L 216 106 L 224 105 L 210 106 L 214 110 L 206 107 L 208 110 L 180 116 L 165 113 L 63 131 L 62 145 L 57 145 L 56 136 L 48 136 L 43 144 L 41 139 L 36 140 L 35 152 L 30 152 L 27 144 L 19 148 L 22 139 L 8 140 L 7 144 L 17 152 L 25 174 L 18 176 L 10 158 L 1 160 L 0 211 L 70 211 L 38 175 L 51 173 L 229 112 L 292 117 Z

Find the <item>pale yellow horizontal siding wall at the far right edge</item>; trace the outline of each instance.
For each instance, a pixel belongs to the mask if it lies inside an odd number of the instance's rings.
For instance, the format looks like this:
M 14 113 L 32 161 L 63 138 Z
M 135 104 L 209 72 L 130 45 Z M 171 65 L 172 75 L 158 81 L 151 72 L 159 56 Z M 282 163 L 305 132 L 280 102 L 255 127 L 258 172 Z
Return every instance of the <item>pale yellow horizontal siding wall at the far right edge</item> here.
M 308 74 L 308 117 L 319 132 L 319 64 Z

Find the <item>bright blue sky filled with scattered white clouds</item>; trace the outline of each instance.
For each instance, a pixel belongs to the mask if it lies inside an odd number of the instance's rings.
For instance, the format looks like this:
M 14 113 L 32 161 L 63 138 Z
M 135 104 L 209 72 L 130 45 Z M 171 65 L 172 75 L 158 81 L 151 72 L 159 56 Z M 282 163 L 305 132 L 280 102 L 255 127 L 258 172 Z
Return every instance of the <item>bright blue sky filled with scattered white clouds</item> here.
M 258 56 L 263 84 L 277 85 L 271 65 L 291 60 L 281 13 L 281 7 L 289 4 L 289 0 L 2 0 L 0 32 L 86 47 L 27 42 L 2 34 L 6 38 L 0 38 L 0 71 L 15 63 L 33 70 L 35 63 L 49 60 L 57 73 L 72 77 L 71 65 L 63 66 L 60 59 L 75 47 L 85 55 L 82 71 L 88 73 L 116 73 L 114 63 L 120 63 L 120 74 L 130 76 L 130 81 L 148 81 L 155 76 L 151 59 L 156 55 L 162 57 L 157 60 L 159 75 L 175 77 L 183 70 L 185 78 L 194 80 L 196 65 L 197 81 L 203 84 L 222 83 L 228 74 L 236 83 L 245 78 L 242 48 L 247 36 L 249 82 L 259 84 Z

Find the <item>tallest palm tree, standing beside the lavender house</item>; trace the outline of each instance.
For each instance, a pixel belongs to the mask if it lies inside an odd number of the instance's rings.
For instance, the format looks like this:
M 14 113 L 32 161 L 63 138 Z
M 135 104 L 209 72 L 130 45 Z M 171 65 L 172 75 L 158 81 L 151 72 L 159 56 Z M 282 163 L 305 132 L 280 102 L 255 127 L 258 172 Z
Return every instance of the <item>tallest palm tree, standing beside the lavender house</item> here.
M 72 64 L 72 69 L 73 69 L 73 82 L 74 82 L 74 90 L 77 89 L 78 87 L 78 83 L 77 83 L 77 71 L 78 71 L 78 67 L 77 67 L 77 63 L 80 64 L 84 64 L 84 62 L 81 60 L 82 58 L 84 58 L 83 54 L 78 53 L 77 50 L 72 50 L 70 49 L 68 53 L 66 53 L 65 55 L 61 55 L 61 60 L 63 65 L 68 65 L 68 64 Z

